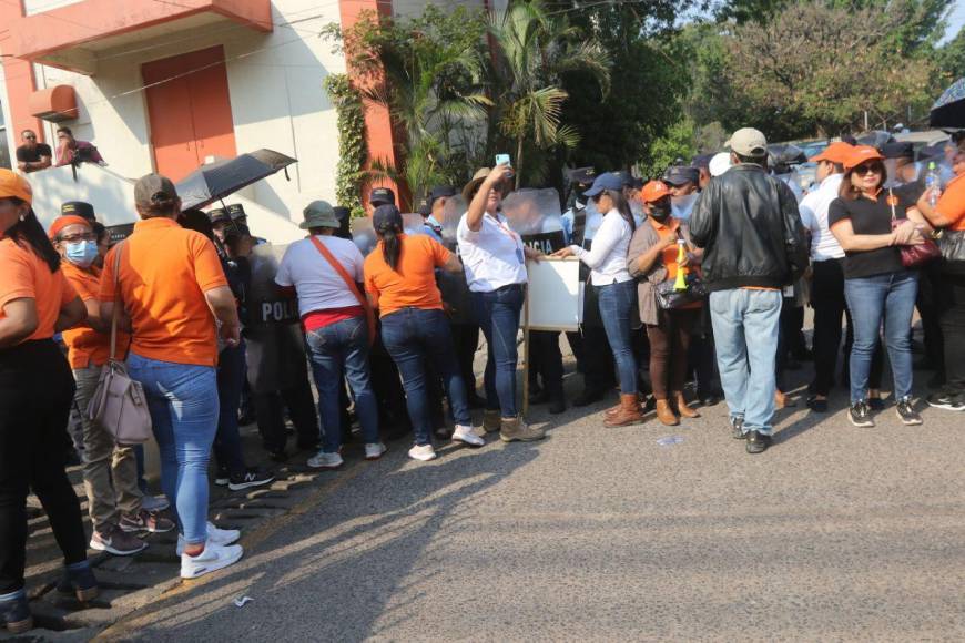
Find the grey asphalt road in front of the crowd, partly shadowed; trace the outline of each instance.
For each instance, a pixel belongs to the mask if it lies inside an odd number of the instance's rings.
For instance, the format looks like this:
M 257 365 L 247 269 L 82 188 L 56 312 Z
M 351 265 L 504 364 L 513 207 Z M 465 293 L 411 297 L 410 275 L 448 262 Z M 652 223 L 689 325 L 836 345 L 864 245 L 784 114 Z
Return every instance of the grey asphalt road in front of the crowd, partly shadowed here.
M 776 445 L 749 456 L 724 405 L 677 428 L 607 429 L 614 399 L 536 407 L 539 443 L 490 437 L 430 463 L 405 442 L 375 463 L 355 447 L 309 501 L 246 537 L 241 564 L 104 634 L 965 640 L 965 414 L 906 428 L 888 406 L 856 429 L 839 392 L 826 416 L 780 411 Z M 236 608 L 242 595 L 254 600 Z

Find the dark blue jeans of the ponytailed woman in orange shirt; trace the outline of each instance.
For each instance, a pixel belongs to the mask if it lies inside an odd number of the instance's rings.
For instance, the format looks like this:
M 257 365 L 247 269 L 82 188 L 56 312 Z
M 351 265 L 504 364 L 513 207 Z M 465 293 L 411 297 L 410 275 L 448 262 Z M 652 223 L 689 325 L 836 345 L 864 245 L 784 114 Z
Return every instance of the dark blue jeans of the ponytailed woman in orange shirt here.
M 416 445 L 431 445 L 426 360 L 443 378 L 457 425 L 470 426 L 466 384 L 456 364 L 449 320 L 441 310 L 403 308 L 382 318 L 382 343 L 398 367 Z

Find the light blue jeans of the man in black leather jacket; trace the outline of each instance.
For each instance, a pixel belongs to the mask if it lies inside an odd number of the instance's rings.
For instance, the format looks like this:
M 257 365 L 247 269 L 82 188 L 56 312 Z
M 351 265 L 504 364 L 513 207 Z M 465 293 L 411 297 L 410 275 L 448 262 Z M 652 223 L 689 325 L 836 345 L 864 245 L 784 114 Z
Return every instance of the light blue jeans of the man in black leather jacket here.
M 743 418 L 744 432 L 769 436 L 773 430 L 781 304 L 780 290 L 734 288 L 710 294 L 720 380 L 731 418 Z

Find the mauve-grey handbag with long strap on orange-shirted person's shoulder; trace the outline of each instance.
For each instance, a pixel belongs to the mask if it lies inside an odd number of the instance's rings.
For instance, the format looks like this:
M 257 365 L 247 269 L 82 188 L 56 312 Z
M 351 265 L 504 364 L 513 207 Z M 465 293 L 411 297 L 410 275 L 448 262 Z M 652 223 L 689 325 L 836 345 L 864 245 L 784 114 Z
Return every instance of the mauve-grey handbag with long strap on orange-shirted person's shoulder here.
M 116 359 L 118 317 L 121 308 L 120 273 L 124 243 L 114 251 L 114 312 L 111 315 L 111 356 L 101 369 L 98 387 L 88 405 L 88 418 L 110 433 L 118 445 L 142 445 L 151 439 L 151 411 L 140 381 Z

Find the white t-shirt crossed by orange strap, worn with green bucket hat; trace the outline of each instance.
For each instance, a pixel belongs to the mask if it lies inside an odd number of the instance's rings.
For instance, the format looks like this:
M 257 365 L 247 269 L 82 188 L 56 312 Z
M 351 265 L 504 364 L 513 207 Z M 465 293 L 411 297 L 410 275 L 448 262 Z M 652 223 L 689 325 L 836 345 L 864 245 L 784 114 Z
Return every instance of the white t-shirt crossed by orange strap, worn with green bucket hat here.
M 318 235 L 315 238 L 328 248 L 356 283 L 363 283 L 365 259 L 354 243 L 336 236 Z M 308 238 L 288 246 L 278 264 L 275 283 L 282 287 L 295 287 L 302 317 L 315 310 L 359 305 L 345 280 Z

